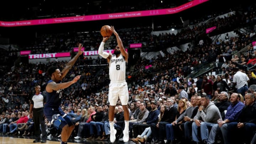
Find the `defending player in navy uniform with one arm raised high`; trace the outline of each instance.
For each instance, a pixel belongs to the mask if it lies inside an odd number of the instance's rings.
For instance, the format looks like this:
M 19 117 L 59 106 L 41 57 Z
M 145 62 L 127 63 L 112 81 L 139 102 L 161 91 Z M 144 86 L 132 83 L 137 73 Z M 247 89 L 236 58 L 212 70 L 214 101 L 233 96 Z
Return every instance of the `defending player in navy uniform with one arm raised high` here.
M 61 72 L 56 66 L 51 66 L 48 68 L 48 74 L 50 75 L 51 80 L 48 81 L 46 86 L 47 101 L 46 105 L 44 106 L 44 115 L 56 128 L 62 129 L 61 144 L 67 144 L 68 138 L 75 128 L 70 117 L 66 115 L 60 108 L 60 104 L 62 102 L 62 90 L 77 82 L 81 75 L 76 76 L 71 81 L 63 83 L 61 82 L 68 71 L 75 64 L 78 57 L 83 53 L 81 48 L 82 45 L 79 44 L 78 53 L 66 64 L 65 68 Z

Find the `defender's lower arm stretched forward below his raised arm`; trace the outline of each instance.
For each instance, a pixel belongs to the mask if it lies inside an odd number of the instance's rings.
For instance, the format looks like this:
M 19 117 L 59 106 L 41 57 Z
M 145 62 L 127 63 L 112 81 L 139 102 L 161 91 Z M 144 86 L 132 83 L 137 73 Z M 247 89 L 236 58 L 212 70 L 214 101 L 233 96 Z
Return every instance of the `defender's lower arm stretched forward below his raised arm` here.
M 67 87 L 69 87 L 70 85 L 74 84 L 75 82 L 77 82 L 80 79 L 81 75 L 76 76 L 73 80 L 68 81 L 68 82 L 63 82 L 60 84 L 57 84 L 56 82 L 50 82 L 47 84 L 46 86 L 46 91 L 47 92 L 52 92 L 52 91 L 57 91 L 60 89 L 65 89 Z

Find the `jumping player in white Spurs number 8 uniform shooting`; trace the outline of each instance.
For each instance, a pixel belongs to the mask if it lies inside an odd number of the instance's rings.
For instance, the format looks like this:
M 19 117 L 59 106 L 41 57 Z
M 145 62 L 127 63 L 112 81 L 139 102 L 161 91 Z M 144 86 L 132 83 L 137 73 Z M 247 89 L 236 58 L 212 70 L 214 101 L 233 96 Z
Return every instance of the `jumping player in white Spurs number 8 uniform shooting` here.
M 128 53 L 124 49 L 123 42 L 121 38 L 118 36 L 118 33 L 111 26 L 111 30 L 117 39 L 117 46 L 114 49 L 114 54 L 103 52 L 103 48 L 105 42 L 110 37 L 103 37 L 103 40 L 98 49 L 98 54 L 101 57 L 107 59 L 109 64 L 109 76 L 110 76 L 110 84 L 109 84 L 109 92 L 108 92 L 108 101 L 110 102 L 110 109 L 108 112 L 109 122 L 110 122 L 110 142 L 114 142 L 116 140 L 116 129 L 114 129 L 114 108 L 116 107 L 116 102 L 118 97 L 122 103 L 122 107 L 124 110 L 124 122 L 125 127 L 123 130 L 123 142 L 127 143 L 129 141 L 129 110 L 128 110 L 128 86 L 126 82 L 126 63 L 128 63 Z

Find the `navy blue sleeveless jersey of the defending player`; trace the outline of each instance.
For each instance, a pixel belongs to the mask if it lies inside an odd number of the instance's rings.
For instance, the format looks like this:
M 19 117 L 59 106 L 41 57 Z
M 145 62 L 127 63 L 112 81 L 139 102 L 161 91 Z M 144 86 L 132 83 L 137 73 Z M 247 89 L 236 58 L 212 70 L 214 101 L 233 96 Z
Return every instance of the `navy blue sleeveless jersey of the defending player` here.
M 53 80 L 49 80 L 49 82 L 52 82 Z M 46 91 L 46 105 L 45 107 L 51 107 L 51 108 L 58 108 L 62 102 L 62 89 L 52 92 Z

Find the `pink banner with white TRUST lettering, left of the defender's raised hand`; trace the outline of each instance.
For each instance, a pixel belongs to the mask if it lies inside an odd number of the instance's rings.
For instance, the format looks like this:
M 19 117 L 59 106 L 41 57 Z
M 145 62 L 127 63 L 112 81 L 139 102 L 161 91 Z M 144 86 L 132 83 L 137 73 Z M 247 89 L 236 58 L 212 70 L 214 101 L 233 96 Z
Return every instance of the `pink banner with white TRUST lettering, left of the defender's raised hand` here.
M 66 52 L 66 53 L 30 54 L 30 55 L 28 55 L 28 59 L 60 58 L 60 57 L 70 57 L 70 52 Z

